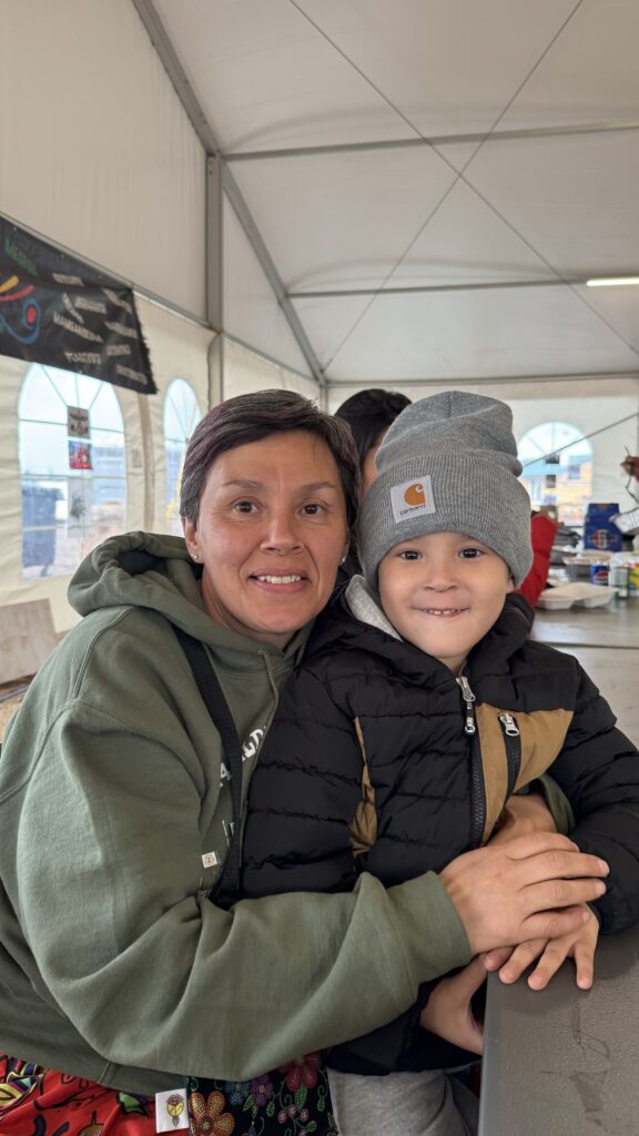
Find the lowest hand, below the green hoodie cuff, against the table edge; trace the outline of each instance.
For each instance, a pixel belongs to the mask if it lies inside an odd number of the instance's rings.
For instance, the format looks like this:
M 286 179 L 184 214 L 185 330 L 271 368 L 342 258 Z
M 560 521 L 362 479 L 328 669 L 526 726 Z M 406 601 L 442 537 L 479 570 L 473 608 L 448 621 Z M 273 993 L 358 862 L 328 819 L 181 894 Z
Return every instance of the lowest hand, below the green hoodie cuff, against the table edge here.
M 453 1045 L 459 1045 L 470 1053 L 481 1053 L 483 1028 L 473 1016 L 471 999 L 484 982 L 486 967 L 482 955 L 479 955 L 458 975 L 442 978 L 437 984 L 422 1010 L 420 1024 Z

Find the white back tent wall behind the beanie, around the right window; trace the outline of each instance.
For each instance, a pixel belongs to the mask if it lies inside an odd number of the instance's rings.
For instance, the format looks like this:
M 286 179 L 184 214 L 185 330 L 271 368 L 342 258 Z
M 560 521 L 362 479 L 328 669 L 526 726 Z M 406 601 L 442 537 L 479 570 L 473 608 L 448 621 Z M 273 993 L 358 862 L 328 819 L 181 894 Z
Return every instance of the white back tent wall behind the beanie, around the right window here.
M 546 382 L 472 384 L 429 383 L 423 386 L 400 383 L 371 383 L 387 390 L 403 391 L 409 399 L 425 398 L 438 391 L 472 391 L 504 399 L 513 411 L 515 437 L 523 437 L 533 426 L 548 421 L 565 421 L 592 446 L 592 500 L 616 501 L 623 512 L 636 508 L 637 502 L 626 492 L 626 475 L 620 468 L 626 451 L 639 453 L 639 378 L 603 379 L 583 378 L 575 382 L 548 379 Z M 363 384 L 340 384 L 329 387 L 329 409 L 337 408 Z M 620 425 L 614 425 L 619 423 Z

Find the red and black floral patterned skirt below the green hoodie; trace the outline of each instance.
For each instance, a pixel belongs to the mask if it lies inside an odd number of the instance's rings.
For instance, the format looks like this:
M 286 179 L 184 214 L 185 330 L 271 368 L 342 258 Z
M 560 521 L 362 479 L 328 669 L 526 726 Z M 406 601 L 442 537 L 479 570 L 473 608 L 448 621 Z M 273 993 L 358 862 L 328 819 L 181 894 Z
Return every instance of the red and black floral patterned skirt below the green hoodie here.
M 191 1136 L 338 1136 L 318 1053 L 254 1080 L 191 1077 L 188 1092 Z M 155 1134 L 152 1096 L 122 1093 L 0 1054 L 0 1136 Z

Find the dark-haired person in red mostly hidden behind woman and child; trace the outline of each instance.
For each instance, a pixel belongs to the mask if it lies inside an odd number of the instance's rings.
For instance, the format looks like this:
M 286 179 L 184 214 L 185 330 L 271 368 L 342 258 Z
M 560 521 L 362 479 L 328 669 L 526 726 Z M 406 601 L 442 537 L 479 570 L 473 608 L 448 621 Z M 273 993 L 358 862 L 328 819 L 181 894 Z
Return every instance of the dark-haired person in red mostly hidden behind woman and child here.
M 375 454 L 382 444 L 385 433 L 398 415 L 410 406 L 410 399 L 398 391 L 383 391 L 370 387 L 351 394 L 335 410 L 335 417 L 348 423 L 355 438 L 360 473 L 360 498 L 377 476 Z M 532 513 L 530 523 L 530 540 L 532 545 L 532 565 L 525 579 L 515 591 L 534 608 L 541 592 L 548 582 L 550 552 L 557 532 L 557 520 L 553 510 L 542 508 Z M 348 557 L 340 567 L 338 582 L 346 583 L 360 570 L 355 543 L 351 542 Z

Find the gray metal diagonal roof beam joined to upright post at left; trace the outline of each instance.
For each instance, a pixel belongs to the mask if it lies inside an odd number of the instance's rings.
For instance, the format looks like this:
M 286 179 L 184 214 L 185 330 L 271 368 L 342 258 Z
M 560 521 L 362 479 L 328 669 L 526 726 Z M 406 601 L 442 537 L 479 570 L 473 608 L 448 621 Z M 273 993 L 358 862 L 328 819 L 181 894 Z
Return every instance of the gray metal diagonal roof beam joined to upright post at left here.
M 186 75 L 186 72 L 182 66 L 177 52 L 173 47 L 171 36 L 168 35 L 152 0 L 132 0 L 132 3 L 135 7 L 135 10 L 140 19 L 142 20 L 142 24 L 147 30 L 149 39 L 153 48 L 156 49 L 158 57 L 174 86 L 175 93 L 177 94 L 177 98 L 180 99 L 180 102 L 182 103 L 182 107 L 184 108 L 184 111 L 188 115 L 191 125 L 204 147 L 207 159 L 209 159 L 209 161 L 207 161 L 207 178 L 208 178 L 209 176 L 208 166 L 210 159 L 219 160 L 222 158 L 222 154 L 215 134 L 204 111 L 204 108 L 200 106 L 199 99 L 189 81 L 189 76 Z M 238 216 L 238 220 L 240 222 L 247 235 L 247 239 L 252 248 L 252 251 L 257 257 L 262 266 L 262 269 L 265 273 L 268 283 L 271 284 L 271 287 L 273 289 L 273 292 L 284 314 L 284 318 L 287 319 L 289 328 L 304 358 L 306 359 L 310 374 L 313 375 L 313 378 L 315 379 L 317 385 L 320 387 L 323 387 L 325 384 L 325 378 L 324 378 L 324 373 L 320 366 L 320 361 L 310 345 L 310 342 L 308 340 L 308 336 L 306 335 L 306 332 L 304 331 L 304 327 L 301 326 L 299 316 L 288 298 L 287 290 L 282 283 L 282 279 L 275 267 L 273 258 L 271 257 L 271 253 L 268 252 L 268 249 L 264 243 L 264 239 L 259 233 L 259 229 L 257 228 L 254 218 L 251 217 L 251 214 L 242 197 L 238 183 L 235 182 L 235 178 L 233 177 L 229 168 L 224 168 L 222 170 L 221 182 L 223 190 L 226 193 Z M 215 233 L 215 218 L 208 216 L 210 206 L 211 202 L 209 193 L 207 192 L 207 232 L 209 234 L 209 236 L 207 237 L 207 287 L 208 287 L 207 303 L 209 306 L 211 303 L 214 304 L 217 303 L 217 300 L 215 299 L 216 290 L 214 286 L 214 277 L 216 269 L 215 266 L 211 265 L 210 262 L 210 256 L 211 256 L 210 237 L 213 237 Z M 222 208 L 222 203 L 219 203 L 219 208 Z M 219 232 L 219 237 L 222 237 L 221 232 Z M 222 256 L 221 252 L 219 256 Z M 215 258 L 217 258 L 217 252 L 215 253 Z M 221 294 L 222 294 L 222 281 L 219 281 L 219 296 Z M 216 325 L 214 324 L 214 326 Z M 221 328 L 222 324 L 218 324 L 217 329 Z

